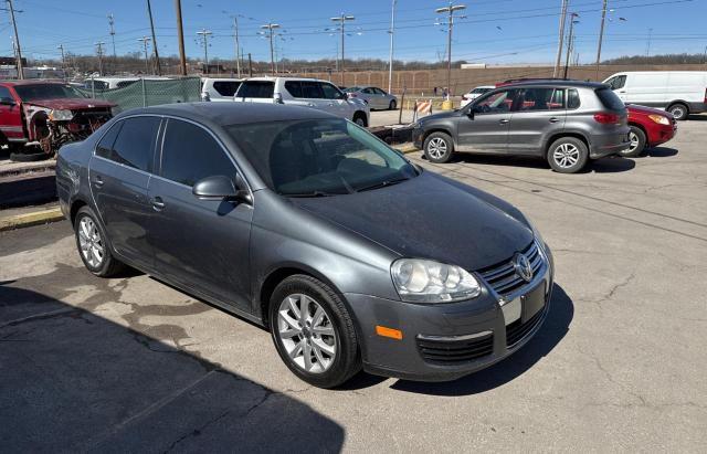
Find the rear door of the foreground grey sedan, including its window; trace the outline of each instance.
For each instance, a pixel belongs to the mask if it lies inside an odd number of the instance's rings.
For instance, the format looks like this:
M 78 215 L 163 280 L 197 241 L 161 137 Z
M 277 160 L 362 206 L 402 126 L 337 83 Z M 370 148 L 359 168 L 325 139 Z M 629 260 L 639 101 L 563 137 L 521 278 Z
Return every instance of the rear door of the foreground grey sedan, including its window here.
M 147 188 L 160 122 L 150 115 L 117 122 L 98 141 L 88 163 L 91 192 L 114 250 L 147 268 L 152 265 Z

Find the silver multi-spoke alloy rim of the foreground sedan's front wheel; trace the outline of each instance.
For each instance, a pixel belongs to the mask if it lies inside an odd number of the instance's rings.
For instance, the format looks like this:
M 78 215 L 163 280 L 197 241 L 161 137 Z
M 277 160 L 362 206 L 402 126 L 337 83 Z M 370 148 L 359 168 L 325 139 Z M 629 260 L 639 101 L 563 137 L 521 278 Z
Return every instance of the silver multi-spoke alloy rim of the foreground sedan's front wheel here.
M 337 336 L 321 305 L 304 294 L 293 294 L 279 304 L 277 336 L 291 361 L 309 373 L 326 372 L 337 352 Z

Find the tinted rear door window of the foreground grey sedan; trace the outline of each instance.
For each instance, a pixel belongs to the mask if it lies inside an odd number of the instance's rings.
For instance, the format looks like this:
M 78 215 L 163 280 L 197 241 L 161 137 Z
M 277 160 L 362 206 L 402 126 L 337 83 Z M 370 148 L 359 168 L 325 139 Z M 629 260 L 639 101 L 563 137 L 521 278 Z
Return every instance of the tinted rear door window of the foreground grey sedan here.
M 133 117 L 123 122 L 110 160 L 150 171 L 160 117 Z

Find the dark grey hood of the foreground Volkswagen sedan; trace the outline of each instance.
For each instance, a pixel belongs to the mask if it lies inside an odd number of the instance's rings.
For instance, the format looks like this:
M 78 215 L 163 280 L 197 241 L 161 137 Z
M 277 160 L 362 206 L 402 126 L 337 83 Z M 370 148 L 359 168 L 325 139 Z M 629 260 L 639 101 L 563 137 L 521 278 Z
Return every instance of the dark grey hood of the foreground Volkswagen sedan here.
M 401 256 L 479 270 L 509 260 L 532 240 L 526 224 L 479 193 L 425 171 L 378 190 L 291 200 Z

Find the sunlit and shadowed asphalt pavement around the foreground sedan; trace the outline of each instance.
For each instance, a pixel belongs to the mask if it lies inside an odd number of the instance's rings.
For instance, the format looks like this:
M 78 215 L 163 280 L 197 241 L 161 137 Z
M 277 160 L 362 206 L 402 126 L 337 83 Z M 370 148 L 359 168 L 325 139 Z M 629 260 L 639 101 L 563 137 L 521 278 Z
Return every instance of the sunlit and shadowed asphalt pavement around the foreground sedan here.
M 409 155 L 514 203 L 556 258 L 538 336 L 449 383 L 308 387 L 263 329 L 139 273 L 93 277 L 66 222 L 0 233 L 0 446 L 704 452 L 705 142 L 695 117 L 645 157 L 578 175 Z

